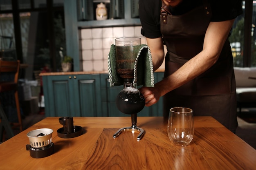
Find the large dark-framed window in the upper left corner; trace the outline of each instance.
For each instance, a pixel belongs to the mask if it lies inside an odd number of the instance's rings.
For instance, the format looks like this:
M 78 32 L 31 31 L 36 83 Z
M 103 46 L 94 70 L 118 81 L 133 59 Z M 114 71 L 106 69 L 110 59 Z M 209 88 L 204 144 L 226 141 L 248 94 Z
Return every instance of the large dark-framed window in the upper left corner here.
M 59 71 L 66 47 L 63 0 L 0 0 L 0 43 L 7 51 L 2 37 L 12 38 L 16 59 L 27 66 L 22 78 L 34 79 L 46 65 Z

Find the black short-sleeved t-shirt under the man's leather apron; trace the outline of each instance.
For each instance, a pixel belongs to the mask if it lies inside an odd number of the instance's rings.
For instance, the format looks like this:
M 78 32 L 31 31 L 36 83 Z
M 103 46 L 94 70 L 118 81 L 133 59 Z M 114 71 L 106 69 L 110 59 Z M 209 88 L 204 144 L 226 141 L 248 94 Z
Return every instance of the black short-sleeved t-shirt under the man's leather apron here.
M 242 14 L 241 0 L 208 0 L 212 11 L 212 22 L 231 20 Z M 183 0 L 177 7 L 171 8 L 172 15 L 182 15 L 195 7 L 202 5 L 202 0 Z M 147 38 L 159 38 L 160 9 L 162 0 L 139 0 L 139 17 L 141 34 Z

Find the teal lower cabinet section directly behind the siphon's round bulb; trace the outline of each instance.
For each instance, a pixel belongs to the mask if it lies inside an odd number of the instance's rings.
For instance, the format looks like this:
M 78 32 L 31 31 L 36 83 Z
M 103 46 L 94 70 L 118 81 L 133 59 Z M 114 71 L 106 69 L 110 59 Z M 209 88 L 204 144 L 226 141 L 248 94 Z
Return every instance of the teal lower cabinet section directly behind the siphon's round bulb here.
M 164 77 L 164 73 L 157 72 L 154 73 L 155 82 L 159 82 Z M 108 79 L 108 74 L 101 74 L 101 102 L 104 112 L 104 116 L 130 116 L 124 113 L 121 113 L 116 106 L 116 97 L 123 89 L 123 86 L 114 86 L 110 87 L 110 82 Z M 138 87 L 139 88 L 139 87 Z M 138 113 L 138 116 L 162 116 L 163 114 L 162 107 L 162 97 L 160 98 L 157 104 L 154 104 L 150 107 L 144 107 Z

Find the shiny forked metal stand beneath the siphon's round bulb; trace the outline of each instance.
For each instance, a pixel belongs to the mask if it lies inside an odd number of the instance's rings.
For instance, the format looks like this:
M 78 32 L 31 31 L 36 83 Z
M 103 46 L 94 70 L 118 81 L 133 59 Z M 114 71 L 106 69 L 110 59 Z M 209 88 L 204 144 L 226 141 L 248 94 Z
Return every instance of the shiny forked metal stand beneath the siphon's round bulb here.
M 144 135 L 144 129 L 138 128 L 137 125 L 136 125 L 137 124 L 137 113 L 136 114 L 132 114 L 131 118 L 132 118 L 132 126 L 131 127 L 120 128 L 119 130 L 117 130 L 117 132 L 115 132 L 115 134 L 113 135 L 114 139 L 116 137 L 118 137 L 124 131 L 132 131 L 132 132 L 133 131 L 138 131 L 140 133 L 139 133 L 139 135 L 137 137 L 137 141 L 140 141 L 140 139 Z

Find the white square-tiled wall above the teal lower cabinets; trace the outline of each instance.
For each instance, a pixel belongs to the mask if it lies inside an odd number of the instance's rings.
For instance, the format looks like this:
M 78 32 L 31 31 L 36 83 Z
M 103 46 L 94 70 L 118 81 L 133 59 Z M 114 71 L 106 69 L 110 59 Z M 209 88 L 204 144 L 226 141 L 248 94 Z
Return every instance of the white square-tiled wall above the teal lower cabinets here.
M 146 44 L 140 30 L 141 26 L 81 29 L 83 71 L 108 71 L 108 53 L 115 38 L 139 37 L 141 44 Z

